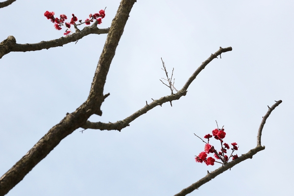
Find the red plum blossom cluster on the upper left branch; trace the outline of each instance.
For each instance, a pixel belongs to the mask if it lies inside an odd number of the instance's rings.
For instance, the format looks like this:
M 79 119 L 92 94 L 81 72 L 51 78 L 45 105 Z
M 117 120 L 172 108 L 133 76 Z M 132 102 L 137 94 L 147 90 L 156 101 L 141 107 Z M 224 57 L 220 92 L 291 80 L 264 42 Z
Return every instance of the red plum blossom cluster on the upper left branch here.
M 71 25 L 74 25 L 75 27 L 77 25 L 82 25 L 82 24 L 86 24 L 86 25 L 90 25 L 92 22 L 94 22 L 94 20 L 96 20 L 98 22 L 98 25 L 100 25 L 102 23 L 102 19 L 105 17 L 105 11 L 104 10 L 100 10 L 99 13 L 95 13 L 95 14 L 90 14 L 89 18 L 86 19 L 84 22 L 82 22 L 82 20 L 79 20 L 79 24 L 75 24 L 75 22 L 77 22 L 77 18 L 76 16 L 74 16 L 74 14 L 72 14 L 72 18 L 71 21 L 69 23 L 65 22 L 65 20 L 67 20 L 67 16 L 64 14 L 60 14 L 60 17 L 54 17 L 54 12 L 49 12 L 46 11 L 44 13 L 44 16 L 50 20 L 52 23 L 54 23 L 54 27 L 57 30 L 61 30 L 61 26 L 65 26 L 66 30 L 64 35 L 68 35 L 70 33 L 72 33 L 73 31 L 71 30 Z

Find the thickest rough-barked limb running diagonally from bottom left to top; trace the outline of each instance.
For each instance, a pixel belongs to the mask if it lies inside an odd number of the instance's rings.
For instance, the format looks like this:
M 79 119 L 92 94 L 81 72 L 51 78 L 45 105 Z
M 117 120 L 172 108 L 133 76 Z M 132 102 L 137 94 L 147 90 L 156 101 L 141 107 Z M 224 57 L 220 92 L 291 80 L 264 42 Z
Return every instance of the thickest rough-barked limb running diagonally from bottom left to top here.
M 88 99 L 73 113 L 67 114 L 60 123 L 53 126 L 48 133 L 21 158 L 21 160 L 19 160 L 0 178 L 0 196 L 7 194 L 28 172 L 44 159 L 49 152 L 61 142 L 61 140 L 70 135 L 75 129 L 85 124 L 91 115 L 102 114 L 100 106 L 104 101 L 104 98 L 108 96 L 108 94 L 103 95 L 106 74 L 135 1 L 136 0 L 121 1 L 117 14 L 109 29 L 109 34 L 107 35 L 100 56 Z M 107 60 L 104 60 L 106 58 Z M 103 74 L 105 74 L 105 76 Z

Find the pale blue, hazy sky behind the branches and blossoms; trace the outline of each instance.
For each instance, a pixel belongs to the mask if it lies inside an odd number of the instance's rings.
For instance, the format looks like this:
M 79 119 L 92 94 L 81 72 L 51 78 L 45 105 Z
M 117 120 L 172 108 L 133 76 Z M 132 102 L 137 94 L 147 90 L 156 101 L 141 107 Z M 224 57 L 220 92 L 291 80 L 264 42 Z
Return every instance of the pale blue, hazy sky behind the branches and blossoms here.
M 38 43 L 63 36 L 44 17 L 75 14 L 85 20 L 104 9 L 110 27 L 119 0 L 21 1 L 0 9 L 0 40 Z M 240 156 L 256 147 L 268 105 L 260 151 L 190 195 L 289 195 L 294 184 L 294 3 L 291 0 L 137 0 L 112 61 L 102 104 L 92 122 L 123 120 L 146 101 L 170 95 L 160 82 L 174 68 L 175 88 L 219 47 L 232 47 L 196 77 L 185 97 L 158 106 L 119 131 L 75 130 L 7 196 L 168 196 L 220 164 L 196 163 L 199 137 L 224 125 L 224 142 Z M 0 175 L 7 172 L 67 112 L 88 97 L 106 34 L 0 59 Z M 216 141 L 212 141 L 216 142 Z M 212 143 L 219 147 L 218 143 Z

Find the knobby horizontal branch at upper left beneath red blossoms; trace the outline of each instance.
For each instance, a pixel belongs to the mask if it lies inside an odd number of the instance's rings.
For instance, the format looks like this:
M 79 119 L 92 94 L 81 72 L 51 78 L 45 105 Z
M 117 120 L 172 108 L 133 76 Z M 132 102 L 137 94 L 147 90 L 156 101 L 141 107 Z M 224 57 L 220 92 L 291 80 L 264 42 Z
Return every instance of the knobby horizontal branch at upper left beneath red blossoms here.
M 42 41 L 36 44 L 17 44 L 13 36 L 0 43 L 0 58 L 9 52 L 25 52 L 25 51 L 36 51 L 41 49 L 49 49 L 54 47 L 63 46 L 65 44 L 76 42 L 77 40 L 89 35 L 89 34 L 106 34 L 109 28 L 97 28 L 97 26 L 86 26 L 79 32 L 75 32 L 72 35 L 61 37 L 59 39 Z

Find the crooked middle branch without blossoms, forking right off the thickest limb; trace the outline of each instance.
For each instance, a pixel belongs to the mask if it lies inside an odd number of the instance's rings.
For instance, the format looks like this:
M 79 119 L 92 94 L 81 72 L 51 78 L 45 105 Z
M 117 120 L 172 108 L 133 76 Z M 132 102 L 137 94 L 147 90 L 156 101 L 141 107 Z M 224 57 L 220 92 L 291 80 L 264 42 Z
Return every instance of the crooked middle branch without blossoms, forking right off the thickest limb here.
M 187 94 L 187 89 L 188 89 L 189 85 L 196 78 L 196 76 L 206 67 L 206 65 L 208 65 L 208 63 L 210 63 L 213 59 L 217 58 L 218 55 L 221 55 L 221 53 L 231 51 L 231 50 L 232 50 L 231 47 L 224 48 L 224 49 L 220 47 L 220 49 L 217 52 L 215 52 L 214 54 L 211 54 L 211 56 L 198 67 L 198 69 L 188 79 L 188 81 L 183 86 L 183 88 L 181 90 L 179 90 L 176 94 L 172 94 L 170 96 L 166 96 L 166 97 L 162 97 L 157 100 L 153 100 L 150 104 L 147 104 L 145 107 L 138 110 L 137 112 L 135 112 L 134 114 L 125 118 L 122 121 L 118 121 L 116 123 L 101 123 L 101 122 L 92 123 L 90 121 L 87 121 L 87 123 L 84 124 L 82 126 L 82 128 L 121 131 L 126 126 L 129 126 L 129 123 L 131 123 L 132 121 L 134 121 L 135 119 L 137 119 L 141 115 L 147 113 L 147 111 L 151 110 L 152 108 L 154 108 L 158 105 L 161 106 L 163 103 L 172 102 L 173 100 L 177 100 L 177 99 L 181 98 L 182 96 L 185 96 Z

